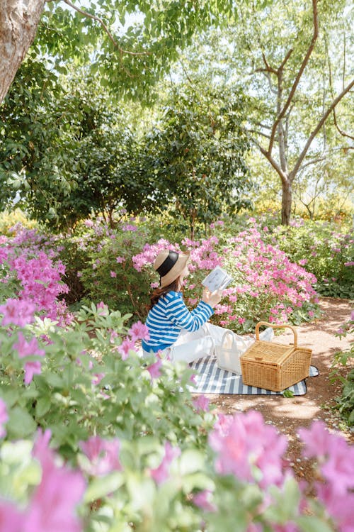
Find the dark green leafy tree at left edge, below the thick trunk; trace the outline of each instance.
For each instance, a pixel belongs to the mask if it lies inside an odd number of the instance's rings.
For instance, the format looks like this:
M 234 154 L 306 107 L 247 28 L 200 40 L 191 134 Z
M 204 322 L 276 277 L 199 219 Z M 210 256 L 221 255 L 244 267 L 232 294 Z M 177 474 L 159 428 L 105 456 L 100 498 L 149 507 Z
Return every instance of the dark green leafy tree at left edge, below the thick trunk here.
M 17 194 L 35 218 L 67 229 L 91 212 L 110 218 L 118 204 L 142 209 L 149 191 L 140 177 L 137 138 L 93 79 L 82 82 L 76 73 L 60 84 L 29 59 L 1 118 L 3 204 Z

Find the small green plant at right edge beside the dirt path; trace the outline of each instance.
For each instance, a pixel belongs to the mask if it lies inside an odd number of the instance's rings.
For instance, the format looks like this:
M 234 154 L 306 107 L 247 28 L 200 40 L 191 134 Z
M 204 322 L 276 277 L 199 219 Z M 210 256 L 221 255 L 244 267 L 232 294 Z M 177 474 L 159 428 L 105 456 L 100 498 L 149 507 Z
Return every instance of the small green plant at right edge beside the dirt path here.
M 350 319 L 343 323 L 343 326 L 338 329 L 336 336 L 339 338 L 346 337 L 347 335 L 353 335 L 354 333 L 354 311 L 352 312 Z M 354 340 L 350 341 L 350 348 L 342 351 L 338 351 L 333 358 L 333 371 L 331 377 L 339 379 L 343 384 L 341 397 L 337 398 L 337 408 L 341 413 L 343 419 L 346 420 L 348 426 L 354 426 L 354 369 L 348 372 L 346 377 L 343 377 L 339 370 L 340 368 L 351 365 L 354 358 Z

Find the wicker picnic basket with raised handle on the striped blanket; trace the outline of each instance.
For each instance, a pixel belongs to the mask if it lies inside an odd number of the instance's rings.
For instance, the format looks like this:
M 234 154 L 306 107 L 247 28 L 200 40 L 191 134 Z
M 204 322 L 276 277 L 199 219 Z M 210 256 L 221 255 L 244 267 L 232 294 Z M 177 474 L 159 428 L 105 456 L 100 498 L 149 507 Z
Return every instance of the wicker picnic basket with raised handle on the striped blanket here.
M 287 327 L 294 333 L 294 345 L 259 340 L 259 327 Z M 297 332 L 290 325 L 273 325 L 260 321 L 256 325 L 256 342 L 240 357 L 244 384 L 282 392 L 309 376 L 312 350 L 297 345 Z

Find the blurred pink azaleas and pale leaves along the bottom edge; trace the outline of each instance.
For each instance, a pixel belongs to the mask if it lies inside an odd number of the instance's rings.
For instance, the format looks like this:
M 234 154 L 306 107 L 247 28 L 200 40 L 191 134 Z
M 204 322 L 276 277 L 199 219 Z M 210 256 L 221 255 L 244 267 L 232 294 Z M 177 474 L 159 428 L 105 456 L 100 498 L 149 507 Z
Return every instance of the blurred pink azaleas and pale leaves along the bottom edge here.
M 7 426 L 0 399 L 2 436 Z M 299 435 L 304 460 L 316 460 L 311 486 L 297 483 L 283 458 L 285 437 L 255 411 L 219 415 L 202 449 L 153 436 L 91 436 L 71 465 L 53 450 L 50 431 L 34 444 L 5 441 L 0 531 L 350 532 L 353 448 L 320 421 Z

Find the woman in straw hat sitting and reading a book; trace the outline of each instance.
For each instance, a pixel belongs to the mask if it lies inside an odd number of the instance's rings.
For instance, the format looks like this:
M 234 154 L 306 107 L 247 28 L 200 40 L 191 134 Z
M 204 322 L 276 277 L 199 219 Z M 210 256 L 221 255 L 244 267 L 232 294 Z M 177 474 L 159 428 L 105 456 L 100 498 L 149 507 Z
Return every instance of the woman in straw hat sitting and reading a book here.
M 161 351 L 173 362 L 193 362 L 211 355 L 215 345 L 222 343 L 227 329 L 208 322 L 214 314 L 215 305 L 222 298 L 222 292 L 211 293 L 205 288 L 193 311 L 188 311 L 185 306 L 181 289 L 183 279 L 189 275 L 188 261 L 189 253 L 171 250 L 161 251 L 156 257 L 154 270 L 160 275 L 160 287 L 151 297 L 146 321 L 149 340 L 142 341 L 144 355 Z M 235 337 L 244 350 L 244 340 L 237 335 Z

